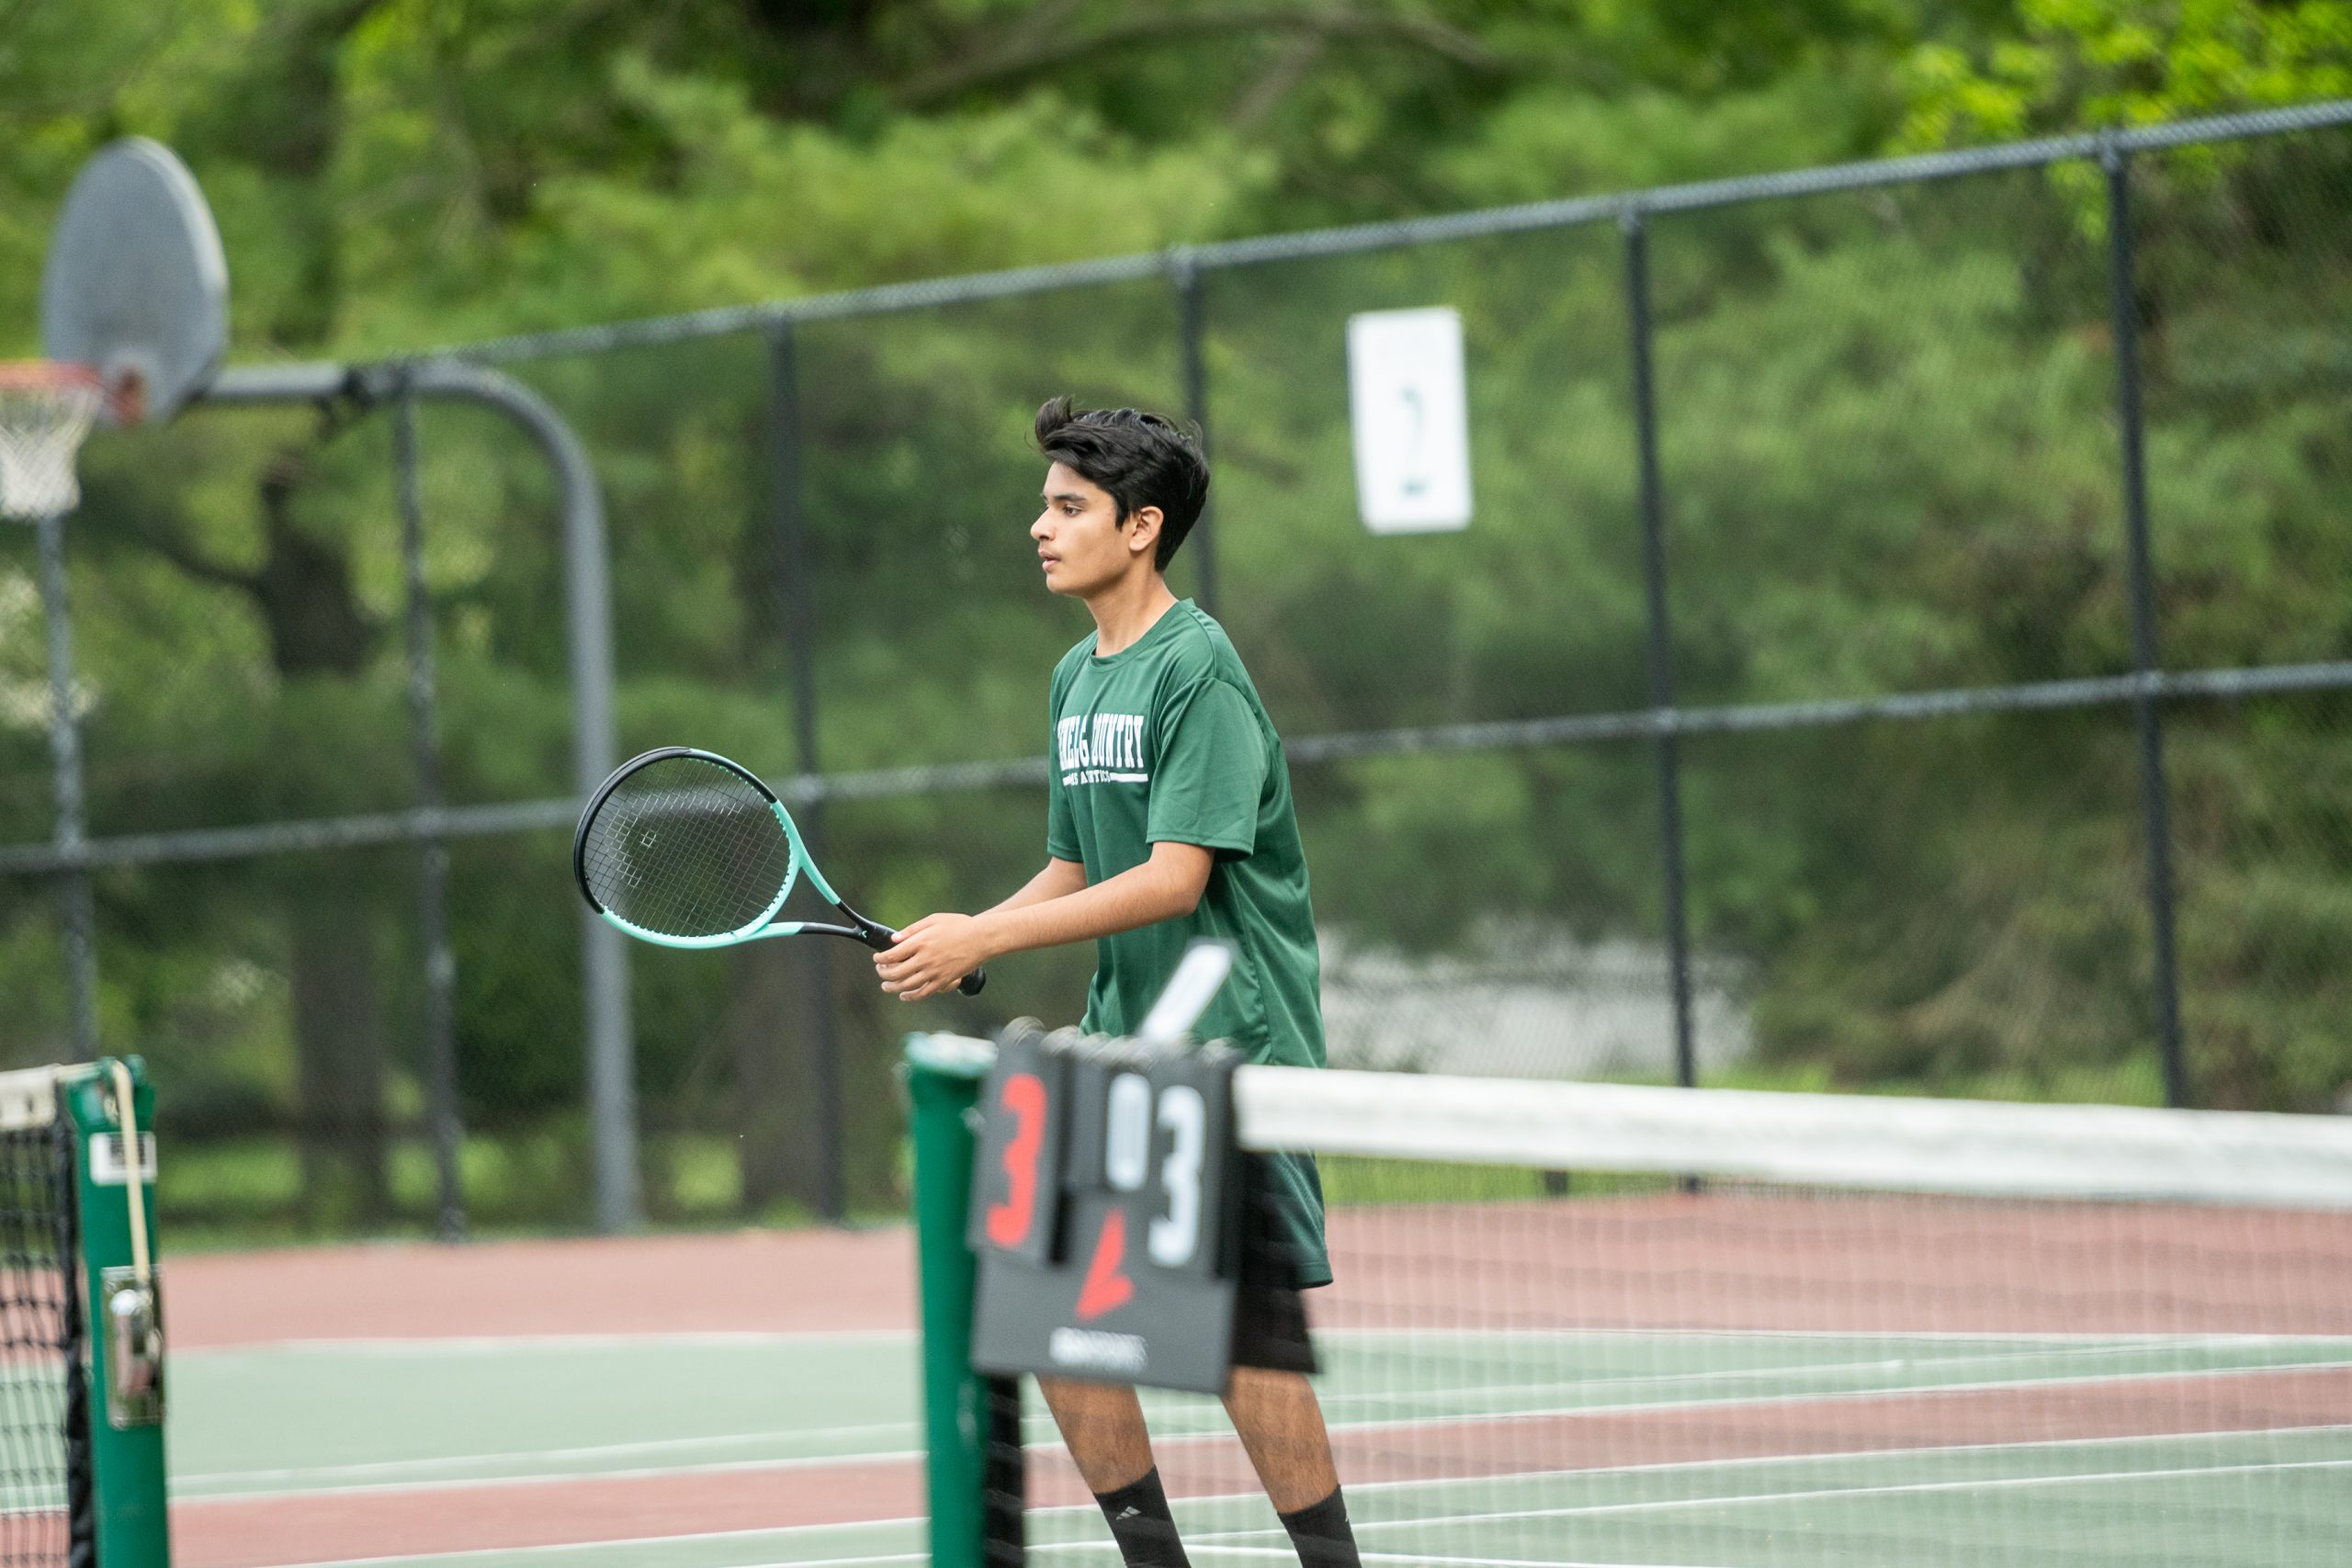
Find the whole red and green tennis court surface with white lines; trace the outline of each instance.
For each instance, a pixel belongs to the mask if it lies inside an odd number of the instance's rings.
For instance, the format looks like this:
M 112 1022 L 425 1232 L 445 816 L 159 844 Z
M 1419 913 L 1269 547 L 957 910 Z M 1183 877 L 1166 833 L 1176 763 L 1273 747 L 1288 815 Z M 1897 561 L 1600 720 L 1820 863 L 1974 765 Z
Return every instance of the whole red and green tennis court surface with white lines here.
M 2352 1215 L 1329 1164 L 1367 1561 L 2343 1561 Z M 174 1267 L 183 1568 L 929 1559 L 906 1232 Z M 1148 1410 L 1192 1561 L 1294 1561 Z M 1028 1441 L 1033 1556 L 1115 1563 Z

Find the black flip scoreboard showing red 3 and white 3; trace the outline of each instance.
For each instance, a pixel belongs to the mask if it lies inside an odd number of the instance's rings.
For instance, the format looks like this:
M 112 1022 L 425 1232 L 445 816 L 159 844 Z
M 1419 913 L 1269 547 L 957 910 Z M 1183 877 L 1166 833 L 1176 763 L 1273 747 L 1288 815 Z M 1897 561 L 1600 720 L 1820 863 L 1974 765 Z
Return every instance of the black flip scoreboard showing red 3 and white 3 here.
M 1225 1392 L 1237 1065 L 1225 1046 L 1004 1032 L 978 1107 L 974 1366 Z

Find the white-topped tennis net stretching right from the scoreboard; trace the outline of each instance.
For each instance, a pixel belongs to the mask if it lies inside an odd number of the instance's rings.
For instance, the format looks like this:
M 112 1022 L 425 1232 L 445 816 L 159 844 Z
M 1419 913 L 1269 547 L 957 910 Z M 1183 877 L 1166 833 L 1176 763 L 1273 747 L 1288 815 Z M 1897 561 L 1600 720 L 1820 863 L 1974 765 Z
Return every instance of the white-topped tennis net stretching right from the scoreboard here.
M 1294 1070 L 1235 1100 L 1247 1147 L 1322 1157 L 1367 1563 L 2352 1540 L 2352 1119 Z M 1218 1406 L 1143 1401 L 1190 1559 L 1296 1561 Z M 1025 1455 L 1030 1559 L 1117 1563 L 1042 1415 Z

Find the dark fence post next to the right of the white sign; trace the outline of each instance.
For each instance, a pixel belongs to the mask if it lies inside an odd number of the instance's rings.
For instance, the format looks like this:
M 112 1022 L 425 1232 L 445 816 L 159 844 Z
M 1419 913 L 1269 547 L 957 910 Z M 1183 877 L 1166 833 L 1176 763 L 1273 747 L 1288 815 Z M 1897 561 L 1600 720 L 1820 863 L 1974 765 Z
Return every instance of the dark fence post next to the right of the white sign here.
M 1682 867 L 1682 748 L 1675 733 L 1675 644 L 1665 604 L 1665 487 L 1658 477 L 1658 402 L 1649 367 L 1649 223 L 1625 219 L 1625 306 L 1632 322 L 1632 423 L 1642 451 L 1642 581 L 1649 590 L 1649 703 L 1658 719 L 1658 846 L 1665 858 L 1665 950 L 1675 987 L 1675 1081 L 1698 1084 L 1691 1034 L 1691 919 Z

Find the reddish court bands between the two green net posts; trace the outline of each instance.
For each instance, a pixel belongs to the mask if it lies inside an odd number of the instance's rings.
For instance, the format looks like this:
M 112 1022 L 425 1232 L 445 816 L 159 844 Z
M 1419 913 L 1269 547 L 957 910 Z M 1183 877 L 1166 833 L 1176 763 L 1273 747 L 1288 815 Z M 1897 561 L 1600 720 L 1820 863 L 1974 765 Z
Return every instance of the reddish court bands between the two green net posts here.
M 334 1340 L 910 1331 L 915 1244 L 729 1232 L 198 1253 L 169 1262 L 174 1349 Z M 724 1281 L 713 1288 L 713 1281 Z M 463 1425 L 463 1413 L 452 1413 Z M 386 1488 L 172 1507 L 176 1568 L 908 1519 L 913 1462 Z

